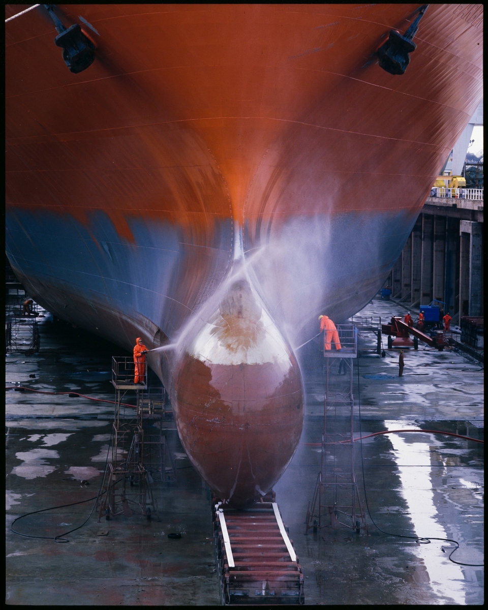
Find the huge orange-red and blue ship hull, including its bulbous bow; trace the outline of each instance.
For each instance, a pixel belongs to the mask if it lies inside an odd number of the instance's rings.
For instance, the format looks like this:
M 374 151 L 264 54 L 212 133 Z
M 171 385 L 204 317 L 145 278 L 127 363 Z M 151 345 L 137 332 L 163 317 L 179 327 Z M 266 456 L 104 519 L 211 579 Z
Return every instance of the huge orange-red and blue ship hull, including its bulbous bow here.
M 216 364 L 192 353 L 188 328 L 208 323 L 202 312 L 212 299 L 218 308 L 235 261 L 290 351 L 299 392 L 293 348 L 317 332 L 318 314 L 345 320 L 378 290 L 478 106 L 481 5 L 430 5 L 406 73 L 379 68 L 376 49 L 419 6 L 57 5 L 66 27 L 81 15 L 96 41 L 80 74 L 43 7 L 6 24 L 7 256 L 60 318 L 127 349 L 137 336 L 178 345 L 148 359 L 189 454 L 185 414 L 210 390 L 190 400 L 184 387 L 193 366 Z M 199 426 L 205 443 L 215 431 L 240 456 L 259 455 L 237 481 L 242 503 L 281 474 L 301 430 L 293 392 L 285 406 L 273 398 L 276 366 L 254 395 L 235 379 L 241 399 L 262 406 L 259 442 L 237 415 L 220 432 Z M 280 409 L 285 449 L 265 473 L 257 447 L 273 446 L 264 431 Z M 230 470 L 191 457 L 228 497 Z

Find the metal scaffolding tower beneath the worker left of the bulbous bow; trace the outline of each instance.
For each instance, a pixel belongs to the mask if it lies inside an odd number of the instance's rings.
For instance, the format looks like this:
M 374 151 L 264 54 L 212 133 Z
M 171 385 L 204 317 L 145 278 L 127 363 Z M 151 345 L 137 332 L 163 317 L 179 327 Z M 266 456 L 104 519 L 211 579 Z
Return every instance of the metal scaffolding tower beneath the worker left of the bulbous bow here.
M 112 357 L 112 384 L 115 388 L 115 414 L 112 429 L 112 454 L 107 461 L 102 482 L 99 520 L 124 514 L 156 515 L 157 503 L 152 493 L 154 479 L 174 481 L 176 468 L 167 451 L 162 424 L 165 408 L 164 388 L 148 388 L 148 367 L 143 381 L 134 383 L 132 357 Z M 154 420 L 150 432 L 144 423 Z M 167 455 L 170 465 L 167 465 Z M 154 477 L 154 478 L 153 478 Z

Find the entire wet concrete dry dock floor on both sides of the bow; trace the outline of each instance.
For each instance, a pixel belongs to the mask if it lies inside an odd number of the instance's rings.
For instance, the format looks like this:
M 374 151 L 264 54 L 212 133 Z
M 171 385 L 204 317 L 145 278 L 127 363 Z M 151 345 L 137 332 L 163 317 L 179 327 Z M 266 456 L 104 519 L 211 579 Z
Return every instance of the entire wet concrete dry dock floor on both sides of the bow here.
M 400 315 L 374 300 L 359 315 Z M 376 337 L 361 332 L 354 362 L 354 436 L 422 428 L 483 438 L 483 370 L 459 352 L 408 351 L 398 377 L 398 351 L 371 353 Z M 386 337 L 384 337 L 386 347 Z M 418 544 L 405 536 L 459 542 L 456 561 L 483 563 L 483 445 L 432 433 L 400 433 L 354 443 L 359 497 L 367 528 L 331 526 L 308 534 L 307 504 L 320 470 L 323 359 L 312 342 L 304 358 L 306 418 L 301 444 L 275 487 L 276 500 L 303 567 L 307 605 L 483 603 L 483 568 L 453 564 L 452 542 Z M 311 354 L 311 355 L 310 355 Z M 7 386 L 80 392 L 113 400 L 112 355 L 120 348 L 50 315 L 38 354 L 7 354 Z M 359 371 L 357 368 L 359 365 Z M 334 368 L 332 368 L 334 370 Z M 359 372 L 359 375 L 358 375 Z M 33 376 L 35 375 L 35 377 Z M 359 379 L 359 389 L 358 389 Z M 176 483 L 154 482 L 160 522 L 143 515 L 107 522 L 93 512 L 70 542 L 17 536 L 13 519 L 96 496 L 107 455 L 113 405 L 34 392 L 6 393 L 7 597 L 9 605 L 218 605 L 208 490 L 163 425 L 176 458 Z M 359 404 L 358 404 L 359 403 Z M 362 477 L 364 465 L 364 483 Z M 89 485 L 81 485 L 88 480 Z M 30 515 L 15 523 L 32 536 L 81 525 L 94 501 Z M 335 524 L 337 525 L 337 523 Z M 107 533 L 108 532 L 108 533 Z M 181 539 L 168 539 L 178 532 Z M 450 548 L 451 547 L 451 548 Z

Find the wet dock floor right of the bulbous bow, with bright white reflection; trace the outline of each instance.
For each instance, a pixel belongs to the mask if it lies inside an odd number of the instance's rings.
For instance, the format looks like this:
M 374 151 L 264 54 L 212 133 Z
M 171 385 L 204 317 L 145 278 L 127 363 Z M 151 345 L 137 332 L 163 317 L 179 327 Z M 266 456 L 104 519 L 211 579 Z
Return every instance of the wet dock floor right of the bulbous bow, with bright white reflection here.
M 393 314 L 398 312 L 392 303 L 375 300 L 360 315 L 389 319 Z M 365 333 L 359 347 L 375 346 L 376 337 Z M 398 351 L 387 351 L 384 358 L 363 354 L 354 363 L 354 395 L 361 400 L 364 436 L 422 428 L 483 439 L 483 366 L 478 362 L 462 353 L 419 348 L 406 353 L 404 376 L 399 378 Z M 323 427 L 323 379 L 320 367 L 315 371 L 309 367 L 304 379 L 308 417 L 303 444 L 275 487 L 306 575 L 307 603 L 482 604 L 483 567 L 449 561 L 456 546 L 451 542 L 417 544 L 415 539 L 387 536 L 368 516 L 368 535 L 329 527 L 304 536 L 321 451 L 304 443 L 320 442 Z M 354 431 L 359 437 L 357 415 L 356 410 Z M 362 454 L 365 485 L 357 443 L 360 496 L 364 501 L 365 487 L 379 528 L 404 536 L 457 540 L 460 548 L 453 559 L 483 564 L 481 443 L 407 432 L 365 439 Z

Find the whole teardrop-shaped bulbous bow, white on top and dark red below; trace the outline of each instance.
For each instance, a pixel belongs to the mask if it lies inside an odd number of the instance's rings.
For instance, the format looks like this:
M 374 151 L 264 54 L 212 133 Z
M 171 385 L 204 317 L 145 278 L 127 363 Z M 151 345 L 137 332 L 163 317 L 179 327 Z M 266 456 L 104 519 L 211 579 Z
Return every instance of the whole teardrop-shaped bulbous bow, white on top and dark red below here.
M 200 475 L 233 506 L 265 495 L 303 426 L 295 356 L 247 279 L 232 282 L 174 367 L 179 435 Z

